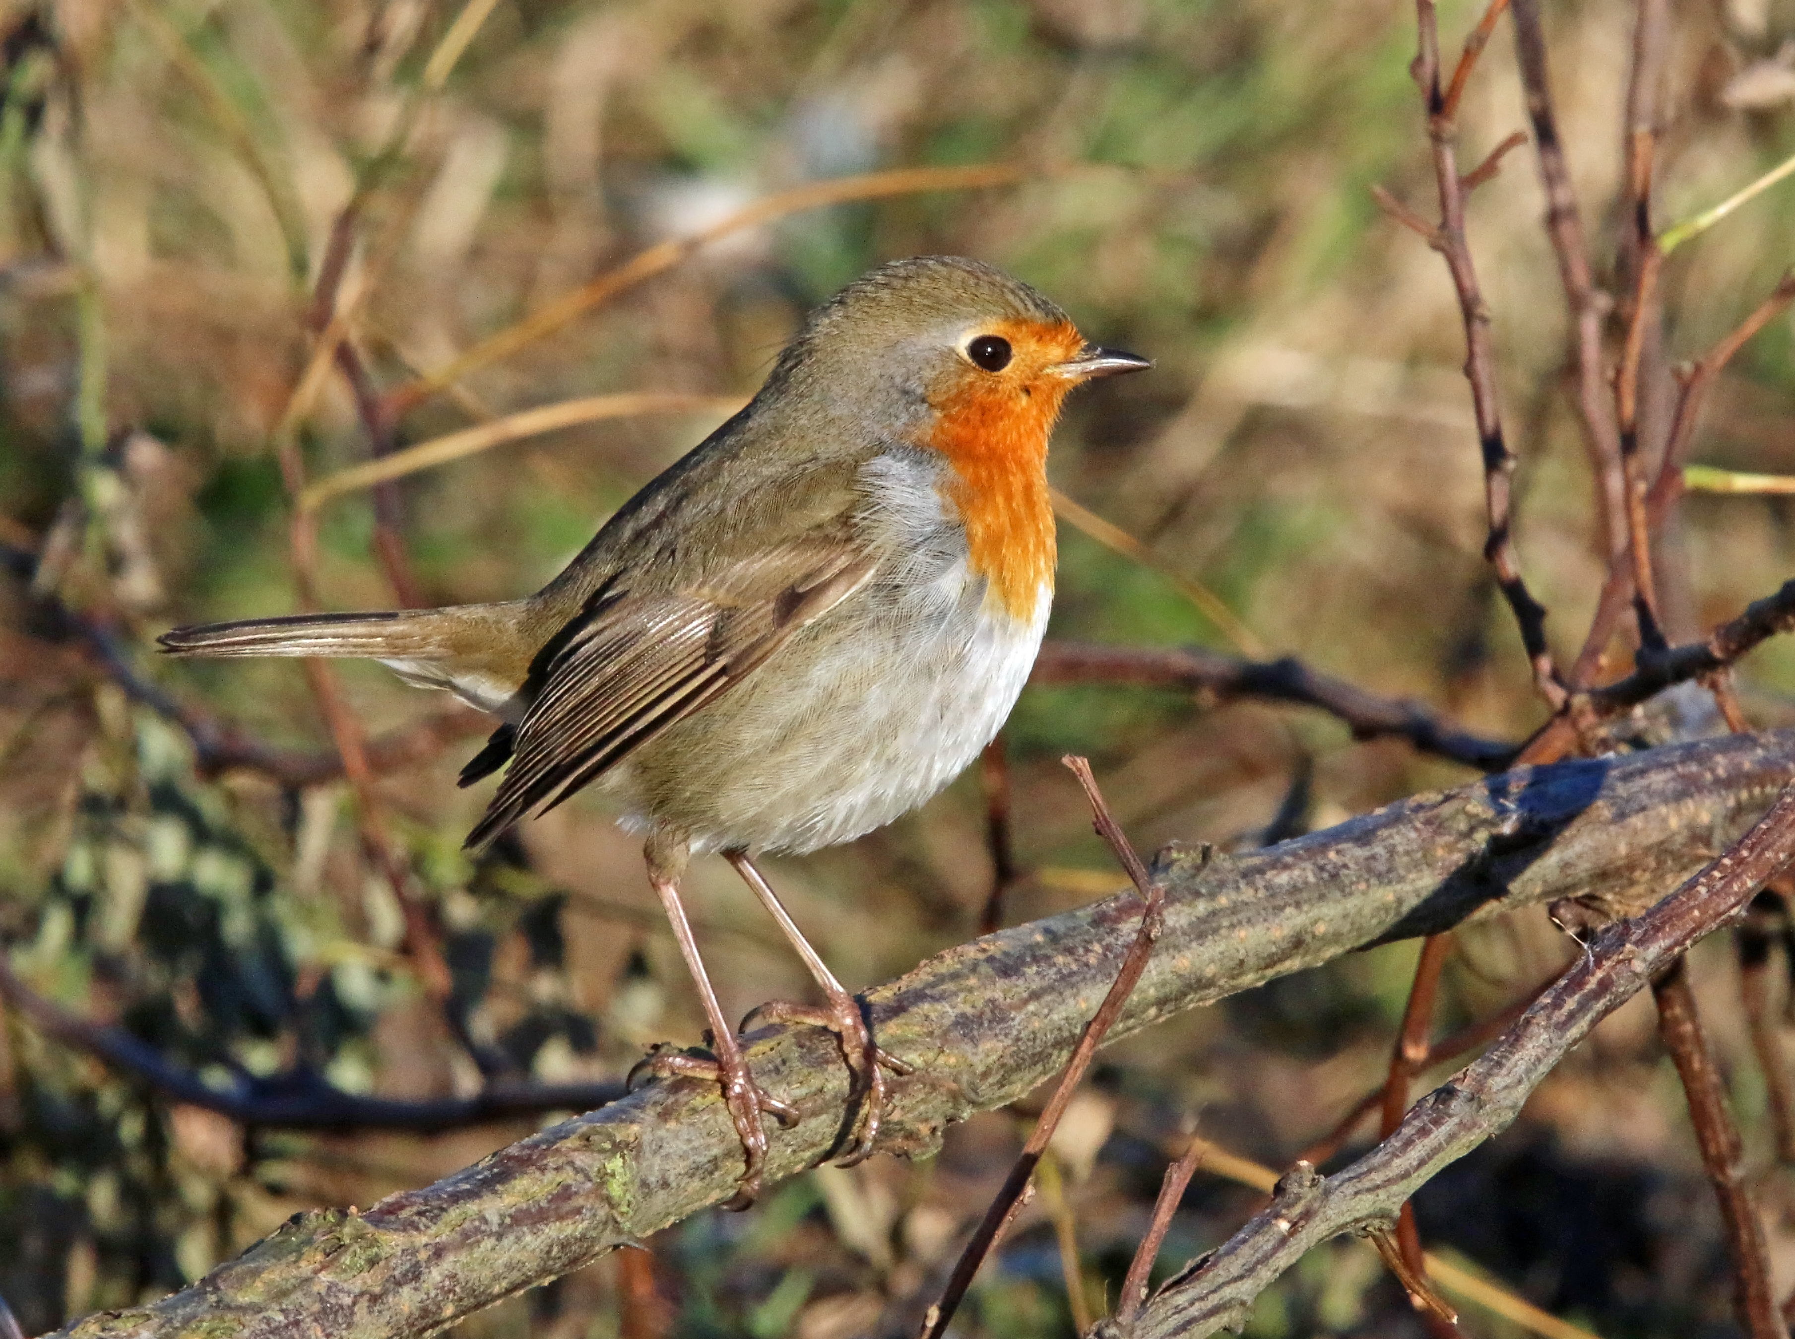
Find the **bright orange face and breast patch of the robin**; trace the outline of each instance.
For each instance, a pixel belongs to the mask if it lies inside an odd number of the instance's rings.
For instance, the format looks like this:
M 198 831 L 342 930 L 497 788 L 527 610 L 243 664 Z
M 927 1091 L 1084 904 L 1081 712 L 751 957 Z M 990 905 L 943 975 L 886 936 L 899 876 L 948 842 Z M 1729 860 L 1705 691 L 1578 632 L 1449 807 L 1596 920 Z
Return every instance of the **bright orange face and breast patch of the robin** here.
M 973 334 L 1007 339 L 1011 363 L 1000 372 L 966 364 L 932 397 L 930 445 L 953 465 L 948 501 L 966 522 L 973 571 L 1012 617 L 1030 619 L 1054 589 L 1046 438 L 1073 386 L 1046 368 L 1077 357 L 1084 339 L 1070 321 L 993 321 Z

